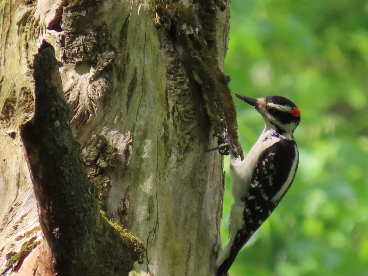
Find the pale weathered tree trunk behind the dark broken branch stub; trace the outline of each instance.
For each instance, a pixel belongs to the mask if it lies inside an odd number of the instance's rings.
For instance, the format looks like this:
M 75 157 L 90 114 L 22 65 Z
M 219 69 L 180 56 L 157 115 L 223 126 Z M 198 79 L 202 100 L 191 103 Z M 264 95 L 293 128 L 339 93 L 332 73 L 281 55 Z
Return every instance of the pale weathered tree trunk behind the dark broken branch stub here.
M 226 125 L 238 147 L 229 79 L 221 72 L 229 1 L 3 0 L 0 11 L 1 275 L 69 273 L 57 266 L 57 235 L 45 233 L 57 227 L 43 224 L 42 202 L 50 198 L 39 196 L 37 182 L 45 178 L 29 161 L 28 150 L 36 146 L 24 145 L 20 131 L 27 122 L 36 124 L 35 55 L 44 40 L 61 61 L 72 133 L 100 208 L 145 248 L 134 275 L 213 274 L 220 248 L 222 156 L 206 150 L 216 144 L 213 133 Z M 40 79 L 55 81 L 46 74 Z M 46 153 L 52 156 L 52 147 Z M 49 162 L 37 162 L 54 170 Z M 60 185 L 70 180 L 65 179 Z M 75 208 L 71 198 L 72 192 L 59 207 Z M 75 267 L 83 263 L 75 262 Z M 122 271 L 111 275 L 127 274 Z

